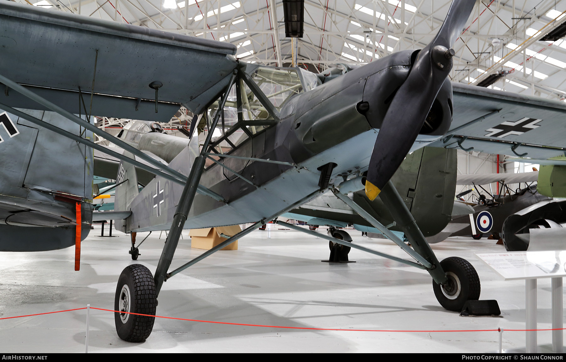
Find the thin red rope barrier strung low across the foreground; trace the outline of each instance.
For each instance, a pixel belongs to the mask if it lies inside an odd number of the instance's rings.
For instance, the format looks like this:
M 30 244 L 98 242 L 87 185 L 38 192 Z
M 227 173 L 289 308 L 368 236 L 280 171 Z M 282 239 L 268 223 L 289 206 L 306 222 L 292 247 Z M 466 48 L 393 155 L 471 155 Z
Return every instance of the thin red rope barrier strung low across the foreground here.
M 53 314 L 53 313 L 62 313 L 62 312 L 71 312 L 71 311 L 80 311 L 82 309 L 87 309 L 87 307 L 83 308 L 75 308 L 75 309 L 65 309 L 65 311 L 55 311 L 55 312 L 46 312 L 46 313 L 36 313 L 36 314 L 29 314 L 25 316 L 14 316 L 14 317 L 3 317 L 3 319 L 12 319 L 12 318 L 22 318 L 22 317 L 33 317 L 33 316 L 41 316 L 45 314 Z M 164 318 L 164 319 L 174 319 L 180 321 L 190 321 L 190 322 L 201 322 L 201 323 L 213 323 L 213 324 L 229 324 L 229 325 L 242 325 L 242 326 L 250 326 L 250 327 L 264 327 L 264 328 L 284 328 L 284 329 L 307 329 L 307 330 L 344 330 L 344 331 L 351 331 L 351 332 L 501 332 L 501 328 L 498 329 L 443 329 L 443 330 L 393 330 L 393 329 L 344 329 L 344 328 L 314 328 L 314 327 L 289 327 L 289 326 L 281 326 L 281 325 L 264 325 L 264 324 L 247 324 L 247 323 L 233 323 L 233 322 L 217 322 L 217 321 L 205 321 L 199 319 L 188 319 L 188 318 L 177 318 L 177 317 L 164 317 L 164 316 L 153 316 L 149 314 L 141 314 L 141 313 L 132 313 L 132 312 L 121 312 L 121 311 L 114 311 L 113 309 L 104 309 L 104 308 L 95 308 L 91 307 L 91 309 L 97 309 L 98 311 L 106 311 L 106 312 L 114 312 L 114 313 L 126 313 L 126 314 L 133 314 L 136 316 L 144 316 L 144 317 L 156 317 L 156 318 Z M 504 329 L 505 331 L 509 332 L 527 332 L 527 331 L 538 331 L 538 330 L 564 330 L 566 328 L 547 328 L 547 329 Z

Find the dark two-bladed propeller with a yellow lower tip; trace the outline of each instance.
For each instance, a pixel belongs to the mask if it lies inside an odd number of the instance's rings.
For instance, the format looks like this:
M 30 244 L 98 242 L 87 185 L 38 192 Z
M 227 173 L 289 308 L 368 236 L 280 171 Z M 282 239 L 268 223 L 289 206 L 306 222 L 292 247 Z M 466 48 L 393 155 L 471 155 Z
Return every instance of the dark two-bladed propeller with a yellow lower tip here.
M 366 180 L 374 200 L 405 159 L 438 91 L 452 69 L 453 43 L 460 35 L 475 0 L 454 0 L 434 40 L 421 50 L 405 82 L 393 97 L 375 141 Z

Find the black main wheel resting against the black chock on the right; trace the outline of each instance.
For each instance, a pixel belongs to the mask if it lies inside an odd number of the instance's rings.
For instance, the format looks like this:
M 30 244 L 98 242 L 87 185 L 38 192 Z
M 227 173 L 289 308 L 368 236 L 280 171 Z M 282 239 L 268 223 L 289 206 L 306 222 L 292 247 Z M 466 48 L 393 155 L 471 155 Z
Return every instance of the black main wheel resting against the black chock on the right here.
M 468 260 L 451 256 L 440 261 L 448 282 L 440 285 L 432 281 L 436 299 L 445 309 L 460 312 L 466 300 L 478 300 L 481 286 L 478 272 Z

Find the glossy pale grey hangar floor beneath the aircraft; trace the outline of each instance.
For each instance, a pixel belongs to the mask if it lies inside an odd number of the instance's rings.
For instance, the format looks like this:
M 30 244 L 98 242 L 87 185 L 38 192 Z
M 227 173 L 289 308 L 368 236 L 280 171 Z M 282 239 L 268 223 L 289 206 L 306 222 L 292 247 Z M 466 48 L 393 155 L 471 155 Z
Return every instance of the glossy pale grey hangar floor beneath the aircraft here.
M 355 249 L 349 257 L 356 263 L 321 263 L 328 258 L 328 241 L 269 226 L 271 238 L 256 230 L 239 241 L 239 250 L 217 252 L 171 278 L 159 296 L 157 315 L 314 328 L 525 328 L 525 282 L 503 281 L 473 254 L 504 250 L 493 240 L 450 238 L 432 245 L 440 260 L 469 260 L 481 279 L 481 299 L 497 299 L 503 316 L 461 317 L 440 307 L 430 276 L 420 269 Z M 404 256 L 390 241 L 348 231 L 360 245 Z M 171 269 L 203 252 L 191 249 L 188 232 L 183 234 Z M 127 253 L 127 235 L 97 235 L 99 225 L 82 243 L 79 272 L 73 269 L 72 247 L 0 253 L 0 317 L 87 303 L 113 309 L 116 282 L 126 265 L 141 263 L 155 271 L 165 233 L 158 239 L 154 232 L 144 242 L 138 261 Z M 138 241 L 145 235 L 138 234 Z M 550 328 L 550 279 L 539 280 L 538 301 L 538 326 Z M 0 320 L 0 351 L 83 352 L 85 316 L 82 310 Z M 113 313 L 91 311 L 90 325 L 89 352 L 493 352 L 498 347 L 497 332 L 331 332 L 166 319 L 156 319 L 144 343 L 127 343 L 115 333 Z M 538 341 L 548 347 L 551 332 L 539 332 Z M 524 346 L 524 332 L 504 332 L 504 349 Z

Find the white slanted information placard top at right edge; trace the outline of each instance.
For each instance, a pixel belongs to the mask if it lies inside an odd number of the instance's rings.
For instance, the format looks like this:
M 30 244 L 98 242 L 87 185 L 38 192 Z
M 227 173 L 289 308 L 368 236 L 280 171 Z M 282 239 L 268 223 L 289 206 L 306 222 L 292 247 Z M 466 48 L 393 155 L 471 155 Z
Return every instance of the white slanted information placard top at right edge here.
M 505 280 L 566 276 L 566 250 L 476 252 Z

